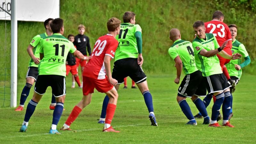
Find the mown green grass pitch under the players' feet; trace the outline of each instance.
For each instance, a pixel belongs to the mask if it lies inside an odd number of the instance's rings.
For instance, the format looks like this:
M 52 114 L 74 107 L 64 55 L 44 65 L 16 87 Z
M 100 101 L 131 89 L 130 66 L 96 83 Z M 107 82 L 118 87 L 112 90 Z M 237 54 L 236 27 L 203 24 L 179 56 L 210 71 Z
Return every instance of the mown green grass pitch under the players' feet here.
M 244 74 L 234 93 L 234 116 L 231 124 L 235 128 L 212 128 L 202 125 L 203 119 L 198 119 L 197 126 L 185 125 L 188 121 L 181 112 L 176 101 L 178 85 L 173 82 L 174 76 L 149 75 L 148 85 L 153 96 L 155 115 L 158 127 L 150 126 L 148 110 L 143 96 L 138 89 L 131 89 L 128 79 L 128 89 L 120 86 L 118 91 L 116 113 L 112 124 L 120 133 L 103 133 L 103 124 L 97 124 L 104 94 L 95 92 L 91 104 L 84 108 L 80 116 L 71 125 L 73 131 L 61 131 L 61 135 L 47 134 L 51 127 L 52 110 L 51 88 L 36 107 L 31 117 L 28 130 L 18 132 L 23 122 L 25 110 L 14 111 L 14 108 L 0 108 L 0 143 L 255 143 L 255 80 L 256 76 Z M 18 83 L 18 95 L 25 81 Z M 64 124 L 73 107 L 82 98 L 82 89 L 71 89 L 71 77 L 67 77 L 67 96 L 58 129 Z M 31 99 L 33 89 L 25 103 Z M 18 101 L 20 96 L 18 96 Z M 197 113 L 193 102 L 187 99 L 192 113 Z M 18 102 L 19 103 L 19 102 Z M 212 103 L 207 108 L 211 115 Z M 219 122 L 220 124 L 222 121 Z

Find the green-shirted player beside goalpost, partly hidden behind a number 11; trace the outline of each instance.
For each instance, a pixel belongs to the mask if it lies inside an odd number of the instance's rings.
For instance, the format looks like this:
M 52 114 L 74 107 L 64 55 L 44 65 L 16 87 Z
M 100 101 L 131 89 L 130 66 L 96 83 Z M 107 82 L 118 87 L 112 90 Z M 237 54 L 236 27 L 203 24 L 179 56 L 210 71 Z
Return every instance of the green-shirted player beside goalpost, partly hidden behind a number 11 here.
M 52 22 L 52 18 L 49 18 L 44 21 L 44 28 L 45 33 L 36 35 L 32 38 L 30 44 L 28 45 L 27 51 L 31 59 L 28 62 L 28 72 L 26 76 L 26 84 L 21 92 L 20 95 L 20 105 L 18 108 L 15 109 L 15 111 L 22 111 L 24 108 L 24 103 L 28 98 L 29 92 L 31 87 L 33 86 L 34 82 L 36 81 L 36 78 L 38 76 L 38 64 L 40 62 L 39 58 L 39 48 L 40 47 L 40 40 L 45 38 L 46 36 L 52 35 L 52 29 L 50 27 L 50 23 Z M 50 109 L 54 109 L 56 105 L 56 100 L 54 96 L 52 95 L 52 103 L 50 105 Z

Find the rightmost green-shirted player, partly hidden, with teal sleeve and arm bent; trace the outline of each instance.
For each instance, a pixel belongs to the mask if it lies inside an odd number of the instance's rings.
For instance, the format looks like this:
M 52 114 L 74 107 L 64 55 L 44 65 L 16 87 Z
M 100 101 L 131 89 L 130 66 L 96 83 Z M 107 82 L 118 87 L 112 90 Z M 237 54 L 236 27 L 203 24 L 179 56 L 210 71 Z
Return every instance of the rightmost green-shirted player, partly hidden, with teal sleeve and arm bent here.
M 231 24 L 228 26 L 229 30 L 231 32 L 231 37 L 232 37 L 232 53 L 240 53 L 242 54 L 244 58 L 244 62 L 241 63 L 241 60 L 230 60 L 228 64 L 226 64 L 226 67 L 228 69 L 228 73 L 230 75 L 230 78 L 238 83 L 242 76 L 242 68 L 247 66 L 248 64 L 251 63 L 251 59 L 249 57 L 248 52 L 245 49 L 244 44 L 240 43 L 239 41 L 236 40 L 236 35 L 237 35 L 237 26 L 235 24 Z M 233 87 L 230 87 L 230 91 L 233 93 L 235 89 Z M 233 99 L 231 100 L 231 109 L 230 109 L 230 114 L 229 114 L 229 119 L 233 116 L 233 111 L 232 111 L 232 104 L 233 104 Z

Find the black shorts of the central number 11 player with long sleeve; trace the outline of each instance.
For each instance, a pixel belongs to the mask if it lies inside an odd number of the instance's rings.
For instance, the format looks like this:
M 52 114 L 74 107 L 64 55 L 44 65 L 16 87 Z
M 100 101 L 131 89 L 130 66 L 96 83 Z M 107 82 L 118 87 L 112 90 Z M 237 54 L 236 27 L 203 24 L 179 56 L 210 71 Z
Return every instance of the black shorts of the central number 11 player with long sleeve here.
M 115 61 L 112 77 L 118 81 L 118 84 L 122 84 L 127 76 L 131 77 L 136 84 L 146 81 L 147 76 L 138 65 L 137 58 L 125 58 Z

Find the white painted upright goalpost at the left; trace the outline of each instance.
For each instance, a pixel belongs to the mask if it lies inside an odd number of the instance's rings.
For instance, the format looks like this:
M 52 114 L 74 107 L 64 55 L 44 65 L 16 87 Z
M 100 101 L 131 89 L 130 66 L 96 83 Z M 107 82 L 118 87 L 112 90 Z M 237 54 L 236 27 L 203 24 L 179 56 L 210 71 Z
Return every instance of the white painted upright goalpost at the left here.
M 17 106 L 17 1 L 11 0 L 11 107 Z

